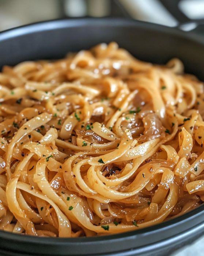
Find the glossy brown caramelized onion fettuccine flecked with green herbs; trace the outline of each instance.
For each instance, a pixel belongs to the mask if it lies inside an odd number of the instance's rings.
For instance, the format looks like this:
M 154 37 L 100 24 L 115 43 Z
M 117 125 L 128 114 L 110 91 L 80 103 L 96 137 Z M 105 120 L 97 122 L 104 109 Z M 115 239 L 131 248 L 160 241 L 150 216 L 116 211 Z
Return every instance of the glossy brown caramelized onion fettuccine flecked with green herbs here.
M 116 43 L 0 73 L 0 229 L 121 233 L 204 201 L 204 84 Z

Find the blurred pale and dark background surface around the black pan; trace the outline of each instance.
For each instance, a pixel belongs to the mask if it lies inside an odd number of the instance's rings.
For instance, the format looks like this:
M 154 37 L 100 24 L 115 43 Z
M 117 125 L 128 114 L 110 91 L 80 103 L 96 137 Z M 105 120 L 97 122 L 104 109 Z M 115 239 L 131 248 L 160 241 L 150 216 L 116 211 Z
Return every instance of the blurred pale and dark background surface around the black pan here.
M 0 30 L 58 18 L 126 17 L 177 26 L 204 19 L 204 0 L 0 0 Z M 189 26 L 190 25 L 190 26 Z M 204 238 L 174 256 L 203 256 Z

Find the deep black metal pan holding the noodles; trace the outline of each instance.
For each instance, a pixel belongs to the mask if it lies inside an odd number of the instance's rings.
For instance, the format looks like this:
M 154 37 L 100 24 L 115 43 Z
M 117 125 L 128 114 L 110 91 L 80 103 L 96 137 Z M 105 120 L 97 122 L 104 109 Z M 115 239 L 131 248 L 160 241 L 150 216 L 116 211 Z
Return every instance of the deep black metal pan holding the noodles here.
M 200 25 L 201 28 L 201 25 Z M 204 37 L 177 28 L 125 19 L 71 19 L 0 33 L 0 66 L 62 58 L 69 51 L 116 41 L 137 58 L 166 63 L 180 58 L 204 80 Z M 103 237 L 42 238 L 0 231 L 0 255 L 169 255 L 204 234 L 204 205 L 156 226 Z

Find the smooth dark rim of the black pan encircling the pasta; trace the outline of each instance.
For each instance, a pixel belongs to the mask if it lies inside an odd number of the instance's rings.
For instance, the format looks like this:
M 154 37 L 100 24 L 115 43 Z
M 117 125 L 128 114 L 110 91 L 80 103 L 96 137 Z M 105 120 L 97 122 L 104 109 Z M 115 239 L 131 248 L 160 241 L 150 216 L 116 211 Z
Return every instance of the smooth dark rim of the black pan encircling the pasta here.
M 23 36 L 25 34 L 30 33 L 37 33 L 37 32 L 45 32 L 48 30 L 57 30 L 62 28 L 71 28 L 71 27 L 86 27 L 86 26 L 135 26 L 140 28 L 148 28 L 155 31 L 160 31 L 165 34 L 171 34 L 178 37 L 182 37 L 184 39 L 189 39 L 193 42 L 200 43 L 204 45 L 204 37 L 193 34 L 190 32 L 185 32 L 177 27 L 167 27 L 164 25 L 159 25 L 150 22 L 143 22 L 143 21 L 136 21 L 130 20 L 126 18 L 73 18 L 73 19 L 52 19 L 49 21 L 42 21 L 42 22 L 35 22 L 28 25 L 19 26 L 16 28 L 4 30 L 0 32 L 0 43 L 4 40 L 10 40 L 12 38 Z M 93 244 L 95 242 L 107 242 L 109 239 L 116 242 L 120 239 L 135 239 L 139 235 L 146 235 L 146 234 L 154 234 L 155 232 L 163 232 L 170 227 L 177 227 L 178 225 L 188 223 L 195 219 L 196 217 L 201 217 L 204 213 L 204 204 L 200 205 L 199 207 L 193 209 L 190 212 L 185 213 L 179 217 L 175 217 L 174 219 L 167 220 L 165 222 L 156 224 L 154 226 L 142 228 L 140 230 L 135 231 L 128 231 L 120 234 L 113 234 L 113 235 L 104 235 L 100 237 L 79 237 L 79 238 L 52 238 L 52 237 L 34 237 L 31 235 L 22 235 L 22 234 L 15 234 L 7 231 L 0 230 L 0 237 L 9 239 L 16 242 L 24 242 L 24 243 L 32 243 L 32 244 L 41 244 L 41 245 L 56 245 L 62 246 L 63 244 L 80 244 L 83 246 L 86 244 Z M 200 222 L 201 223 L 201 222 Z M 196 226 L 196 225 L 192 225 Z M 190 226 L 186 226 L 186 230 L 188 230 Z M 183 231 L 185 232 L 185 231 Z M 26 237 L 26 239 L 24 239 Z M 158 239 L 161 241 L 161 239 Z

